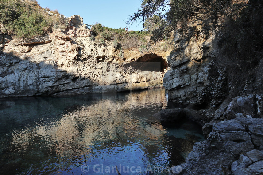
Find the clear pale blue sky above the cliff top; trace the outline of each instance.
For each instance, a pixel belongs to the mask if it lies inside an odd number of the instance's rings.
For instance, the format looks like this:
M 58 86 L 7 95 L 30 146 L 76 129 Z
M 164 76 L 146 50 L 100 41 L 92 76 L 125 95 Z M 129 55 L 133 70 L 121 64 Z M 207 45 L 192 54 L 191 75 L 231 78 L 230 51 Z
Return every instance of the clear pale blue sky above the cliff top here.
M 94 22 L 101 23 L 106 27 L 119 29 L 126 28 L 125 20 L 138 9 L 141 0 L 37 0 L 41 7 L 58 9 L 58 12 L 71 17 L 80 15 L 84 24 L 93 25 Z M 127 26 L 129 30 L 138 31 L 142 29 L 142 23 Z

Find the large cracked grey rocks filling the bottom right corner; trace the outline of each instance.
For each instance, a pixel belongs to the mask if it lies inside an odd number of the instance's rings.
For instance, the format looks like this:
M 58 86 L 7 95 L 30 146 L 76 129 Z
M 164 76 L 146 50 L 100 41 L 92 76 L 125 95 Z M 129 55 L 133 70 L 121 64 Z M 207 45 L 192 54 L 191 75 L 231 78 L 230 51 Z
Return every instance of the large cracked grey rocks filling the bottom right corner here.
M 185 163 L 172 167 L 169 174 L 262 173 L 262 139 L 263 118 L 215 123 L 208 139 L 195 143 Z

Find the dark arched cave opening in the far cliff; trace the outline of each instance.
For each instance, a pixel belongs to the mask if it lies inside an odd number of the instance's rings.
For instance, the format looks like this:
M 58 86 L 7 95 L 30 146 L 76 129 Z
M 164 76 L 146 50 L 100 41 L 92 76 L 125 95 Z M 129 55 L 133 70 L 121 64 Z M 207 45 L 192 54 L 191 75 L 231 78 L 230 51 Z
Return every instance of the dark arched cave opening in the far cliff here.
M 146 54 L 139 57 L 135 62 L 129 63 L 130 66 L 136 67 L 141 71 L 155 71 L 164 72 L 164 69 L 168 68 L 168 64 L 164 61 L 164 58 L 156 54 Z

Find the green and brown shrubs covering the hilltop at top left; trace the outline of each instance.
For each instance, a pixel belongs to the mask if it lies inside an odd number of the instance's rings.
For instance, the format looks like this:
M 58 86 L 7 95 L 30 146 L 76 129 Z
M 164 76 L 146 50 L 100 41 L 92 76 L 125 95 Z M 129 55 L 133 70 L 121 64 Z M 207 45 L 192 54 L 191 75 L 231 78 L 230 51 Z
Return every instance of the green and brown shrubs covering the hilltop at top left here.
M 58 13 L 56 10 L 52 11 Z M 35 0 L 1 0 L 0 33 L 15 38 L 33 38 L 52 28 L 65 28 L 63 18 L 49 16 Z

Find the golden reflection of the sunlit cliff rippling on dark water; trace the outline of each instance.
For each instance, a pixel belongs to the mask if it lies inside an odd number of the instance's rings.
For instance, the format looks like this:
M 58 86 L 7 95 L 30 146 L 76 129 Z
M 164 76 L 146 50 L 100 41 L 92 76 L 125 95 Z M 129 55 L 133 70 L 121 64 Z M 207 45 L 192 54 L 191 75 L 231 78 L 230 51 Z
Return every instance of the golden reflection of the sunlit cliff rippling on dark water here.
M 141 110 L 147 110 L 149 105 L 154 106 L 156 111 L 161 108 L 159 104 L 166 105 L 167 99 L 164 96 L 164 90 L 161 91 L 162 93 L 158 91 L 130 93 L 127 94 L 128 97 L 125 100 L 119 99 L 118 95 L 105 96 L 105 98 L 98 99 L 91 105 L 75 106 L 61 115 L 58 125 L 39 132 L 48 131 L 47 135 L 53 135 L 57 138 L 58 144 L 62 146 L 62 152 L 66 148 L 65 144 L 60 143 L 60 141 L 65 140 L 78 140 L 78 142 L 85 142 L 88 146 L 92 145 L 93 142 L 102 144 L 105 140 L 114 141 L 119 136 L 147 136 L 154 139 L 157 136 L 151 133 L 151 128 L 138 128 L 136 123 L 140 125 L 145 117 L 148 118 L 149 113 L 153 113 L 152 111 L 146 112 L 146 114 L 141 113 Z M 138 134 L 138 131 L 143 131 L 145 134 Z

